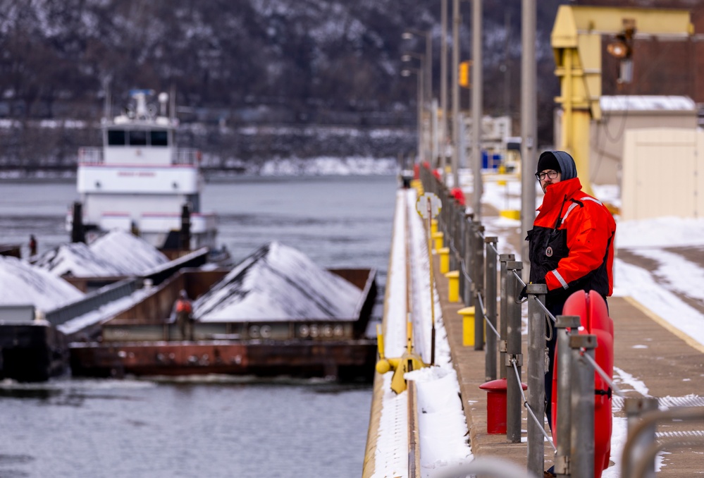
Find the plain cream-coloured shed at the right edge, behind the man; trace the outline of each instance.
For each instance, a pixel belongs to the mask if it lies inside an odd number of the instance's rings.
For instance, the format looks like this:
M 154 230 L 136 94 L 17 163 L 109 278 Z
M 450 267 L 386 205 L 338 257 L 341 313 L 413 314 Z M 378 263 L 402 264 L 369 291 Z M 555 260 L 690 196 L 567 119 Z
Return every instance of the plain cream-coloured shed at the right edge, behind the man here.
M 628 130 L 621 217 L 698 218 L 704 214 L 704 132 L 693 128 Z

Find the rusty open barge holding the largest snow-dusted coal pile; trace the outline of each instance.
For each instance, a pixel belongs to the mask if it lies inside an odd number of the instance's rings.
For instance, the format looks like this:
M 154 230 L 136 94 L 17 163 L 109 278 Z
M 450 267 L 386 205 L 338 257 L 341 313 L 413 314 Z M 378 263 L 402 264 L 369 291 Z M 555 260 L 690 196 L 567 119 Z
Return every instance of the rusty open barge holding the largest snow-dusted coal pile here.
M 172 310 L 181 290 L 197 298 L 216 290 L 218 283 L 227 282 L 228 277 L 230 283 L 241 285 L 246 282 L 247 272 L 252 272 L 267 258 L 271 262 L 271 257 L 260 254 L 257 259 L 261 260 L 245 260 L 240 269 L 234 268 L 237 270 L 183 269 L 130 309 L 104 321 L 95 340 L 70 343 L 73 375 L 231 374 L 371 381 L 376 362 L 376 338 L 367 336 L 366 329 L 377 293 L 374 269 L 325 271 L 330 275 L 327 281 L 335 276 L 335 280 L 342 278 L 359 289 L 354 311 L 347 317 L 299 315 L 267 319 L 254 317 L 248 309 L 247 319 L 235 317 L 237 314 L 221 307 L 219 312 L 211 312 L 210 319 L 204 314 L 194 321 L 192 340 L 180 336 Z M 301 269 L 300 263 L 292 269 Z M 287 275 L 286 271 L 278 271 L 278 276 L 280 283 L 275 282 L 274 275 L 268 275 L 271 290 L 266 290 L 264 295 L 239 289 L 226 290 L 221 296 L 242 298 L 249 293 L 249 297 L 260 304 L 278 301 L 289 304 L 292 309 L 305 310 L 285 289 L 295 288 L 311 298 L 315 295 L 311 283 L 318 279 L 311 279 L 309 273 L 301 278 Z M 307 279 L 309 283 L 303 283 Z M 259 278 L 257 281 L 261 286 Z M 213 310 L 212 301 L 206 304 L 201 300 L 199 307 L 199 300 L 194 302 L 195 313 L 199 308 Z

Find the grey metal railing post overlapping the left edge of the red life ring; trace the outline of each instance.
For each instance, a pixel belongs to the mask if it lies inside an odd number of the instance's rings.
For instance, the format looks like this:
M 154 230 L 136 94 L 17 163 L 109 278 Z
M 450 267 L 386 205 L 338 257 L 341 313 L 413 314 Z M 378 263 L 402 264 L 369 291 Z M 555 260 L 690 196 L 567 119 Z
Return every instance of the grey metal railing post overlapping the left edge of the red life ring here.
M 567 398 L 572 389 L 572 350 L 569 348 L 569 331 L 577 331 L 580 324 L 579 315 L 558 315 L 555 321 L 557 333 L 557 349 L 555 353 L 555 366 L 557 367 L 557 420 L 552 424 L 555 427 L 557 451 L 555 451 L 555 474 L 558 477 L 569 477 L 569 450 L 570 429 L 572 423 L 571 402 Z M 562 400 L 560 400 L 562 397 Z

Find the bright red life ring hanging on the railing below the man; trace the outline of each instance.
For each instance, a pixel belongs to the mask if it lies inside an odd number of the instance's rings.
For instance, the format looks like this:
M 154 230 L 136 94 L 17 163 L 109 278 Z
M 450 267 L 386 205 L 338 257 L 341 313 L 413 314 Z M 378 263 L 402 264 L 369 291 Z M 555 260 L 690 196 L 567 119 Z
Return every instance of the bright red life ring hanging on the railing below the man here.
M 614 378 L 614 321 L 604 299 L 594 290 L 585 293 L 581 290 L 570 295 L 562 310 L 564 315 L 579 315 L 582 329 L 579 333 L 591 333 L 597 338 L 594 350 L 596 363 Z M 555 347 L 557 357 L 557 347 Z M 552 374 L 552 441 L 557 443 L 557 362 Z M 594 477 L 609 466 L 611 455 L 611 388 L 607 381 L 594 372 Z

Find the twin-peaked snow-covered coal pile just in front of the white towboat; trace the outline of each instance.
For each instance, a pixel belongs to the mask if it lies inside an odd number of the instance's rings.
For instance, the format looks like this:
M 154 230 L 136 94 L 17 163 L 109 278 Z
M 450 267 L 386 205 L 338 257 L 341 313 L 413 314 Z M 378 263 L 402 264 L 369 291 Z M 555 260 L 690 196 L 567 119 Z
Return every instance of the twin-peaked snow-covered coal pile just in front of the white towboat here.
M 46 252 L 35 264 L 55 276 L 130 276 L 168 262 L 156 247 L 127 231 L 110 231 L 92 242 L 70 243 Z

